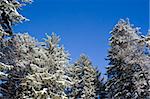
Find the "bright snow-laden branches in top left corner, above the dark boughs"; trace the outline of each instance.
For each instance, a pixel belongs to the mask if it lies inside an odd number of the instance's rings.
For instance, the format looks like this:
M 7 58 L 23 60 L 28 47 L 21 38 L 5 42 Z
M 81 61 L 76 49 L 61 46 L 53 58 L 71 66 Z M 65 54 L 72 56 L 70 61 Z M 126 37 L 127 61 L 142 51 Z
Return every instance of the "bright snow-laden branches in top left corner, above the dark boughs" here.
M 8 20 L 11 22 L 21 22 L 25 20 L 18 10 L 26 5 L 26 3 L 32 2 L 31 0 L 0 0 L 0 14 L 5 13 Z

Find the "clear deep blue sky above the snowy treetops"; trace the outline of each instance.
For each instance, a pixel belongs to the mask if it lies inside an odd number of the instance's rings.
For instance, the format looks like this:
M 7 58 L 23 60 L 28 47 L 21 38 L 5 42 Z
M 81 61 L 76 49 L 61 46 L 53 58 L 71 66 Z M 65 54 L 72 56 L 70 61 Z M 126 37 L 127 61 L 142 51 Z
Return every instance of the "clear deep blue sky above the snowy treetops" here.
M 71 54 L 71 61 L 85 53 L 102 74 L 107 66 L 109 32 L 120 18 L 129 18 L 146 34 L 149 27 L 149 0 L 34 0 L 21 11 L 30 19 L 15 26 L 41 39 L 56 32 Z

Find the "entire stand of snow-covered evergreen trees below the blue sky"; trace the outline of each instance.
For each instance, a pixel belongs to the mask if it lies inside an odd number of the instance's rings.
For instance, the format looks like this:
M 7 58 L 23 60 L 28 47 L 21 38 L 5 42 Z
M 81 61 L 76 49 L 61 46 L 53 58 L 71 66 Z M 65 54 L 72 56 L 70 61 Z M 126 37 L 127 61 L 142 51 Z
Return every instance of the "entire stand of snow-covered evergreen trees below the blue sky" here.
M 12 26 L 26 20 L 18 11 L 30 0 L 0 1 L 0 97 L 2 99 L 150 99 L 150 35 L 129 20 L 110 32 L 107 80 L 82 54 L 70 54 L 55 33 L 43 42 Z M 98 52 L 97 52 L 98 53 Z

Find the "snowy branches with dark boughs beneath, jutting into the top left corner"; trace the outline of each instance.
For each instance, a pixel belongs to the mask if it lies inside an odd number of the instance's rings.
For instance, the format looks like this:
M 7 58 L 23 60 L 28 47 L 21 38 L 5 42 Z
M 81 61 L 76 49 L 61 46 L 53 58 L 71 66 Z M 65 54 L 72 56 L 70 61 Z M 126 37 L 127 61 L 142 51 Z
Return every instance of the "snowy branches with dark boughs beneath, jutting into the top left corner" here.
M 30 0 L 0 0 L 0 38 L 12 35 L 12 25 L 26 20 L 18 10 Z

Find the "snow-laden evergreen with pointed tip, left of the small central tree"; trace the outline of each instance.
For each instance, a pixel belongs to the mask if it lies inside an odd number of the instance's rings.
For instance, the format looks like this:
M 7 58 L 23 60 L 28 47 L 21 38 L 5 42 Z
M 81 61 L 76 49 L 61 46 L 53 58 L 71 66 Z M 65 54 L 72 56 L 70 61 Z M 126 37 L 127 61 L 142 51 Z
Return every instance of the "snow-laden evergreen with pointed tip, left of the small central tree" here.
M 44 47 L 31 49 L 30 72 L 21 81 L 16 98 L 67 98 L 64 89 L 71 84 L 70 78 L 65 75 L 68 53 L 59 46 L 60 38 L 54 33 L 47 38 Z

